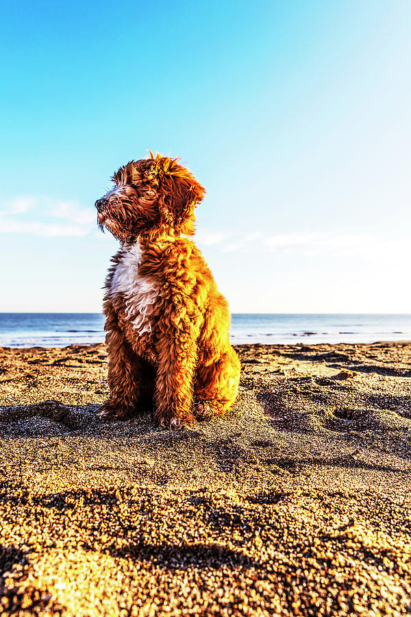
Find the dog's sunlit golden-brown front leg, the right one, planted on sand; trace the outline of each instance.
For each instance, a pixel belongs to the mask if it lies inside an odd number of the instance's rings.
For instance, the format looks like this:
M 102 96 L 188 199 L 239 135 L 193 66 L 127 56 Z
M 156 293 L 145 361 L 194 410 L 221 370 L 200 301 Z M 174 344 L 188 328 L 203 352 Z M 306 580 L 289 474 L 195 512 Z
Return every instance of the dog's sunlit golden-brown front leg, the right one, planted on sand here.
M 197 334 L 193 324 L 170 327 L 157 343 L 155 420 L 160 426 L 196 424 L 192 415 L 193 381 L 197 363 Z

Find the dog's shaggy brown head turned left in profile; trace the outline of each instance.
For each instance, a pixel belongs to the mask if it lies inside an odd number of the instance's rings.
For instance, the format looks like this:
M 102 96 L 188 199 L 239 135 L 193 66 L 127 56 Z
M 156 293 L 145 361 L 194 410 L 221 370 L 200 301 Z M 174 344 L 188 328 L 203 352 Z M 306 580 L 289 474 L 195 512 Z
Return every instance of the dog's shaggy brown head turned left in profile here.
M 121 242 L 157 230 L 192 235 L 194 208 L 205 190 L 177 158 L 132 160 L 112 177 L 114 188 L 97 199 L 97 219 Z

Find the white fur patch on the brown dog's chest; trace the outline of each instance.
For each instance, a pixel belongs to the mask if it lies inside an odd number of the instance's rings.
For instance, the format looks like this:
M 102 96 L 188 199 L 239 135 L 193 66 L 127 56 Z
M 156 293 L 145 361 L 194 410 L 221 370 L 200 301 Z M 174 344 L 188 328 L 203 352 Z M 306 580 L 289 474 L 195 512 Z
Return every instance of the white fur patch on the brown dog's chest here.
M 138 240 L 124 247 L 110 284 L 111 297 L 125 300 L 125 318 L 132 322 L 138 335 L 151 332 L 150 315 L 160 295 L 158 282 L 150 276 L 140 276 L 142 252 Z

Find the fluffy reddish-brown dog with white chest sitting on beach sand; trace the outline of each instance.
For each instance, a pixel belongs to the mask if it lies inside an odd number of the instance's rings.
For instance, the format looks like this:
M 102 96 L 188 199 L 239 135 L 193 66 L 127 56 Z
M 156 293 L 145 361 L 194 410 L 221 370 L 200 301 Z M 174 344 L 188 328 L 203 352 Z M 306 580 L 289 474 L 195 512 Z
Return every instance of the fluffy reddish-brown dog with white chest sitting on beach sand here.
M 178 159 L 150 156 L 121 167 L 95 204 L 100 228 L 121 242 L 105 282 L 110 398 L 100 413 L 128 418 L 154 398 L 158 424 L 179 428 L 232 406 L 240 361 L 227 301 L 186 237 L 203 186 Z

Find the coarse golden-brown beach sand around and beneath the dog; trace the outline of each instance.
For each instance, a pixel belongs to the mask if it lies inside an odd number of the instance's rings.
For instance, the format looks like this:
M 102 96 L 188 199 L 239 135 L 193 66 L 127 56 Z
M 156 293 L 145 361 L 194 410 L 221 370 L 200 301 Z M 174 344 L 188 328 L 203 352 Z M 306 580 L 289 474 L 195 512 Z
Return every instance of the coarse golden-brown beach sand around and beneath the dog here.
M 411 343 L 237 350 L 175 433 L 97 418 L 103 345 L 0 351 L 2 616 L 410 614 Z

